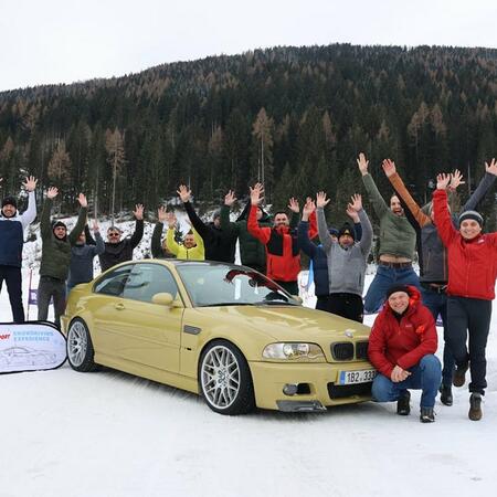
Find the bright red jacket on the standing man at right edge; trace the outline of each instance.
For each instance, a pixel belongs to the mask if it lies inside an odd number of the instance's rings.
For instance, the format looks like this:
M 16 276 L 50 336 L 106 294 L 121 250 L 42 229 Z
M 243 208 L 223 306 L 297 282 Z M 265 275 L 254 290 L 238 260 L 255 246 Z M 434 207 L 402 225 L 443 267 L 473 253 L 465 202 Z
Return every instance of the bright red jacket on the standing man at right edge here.
M 433 192 L 433 209 L 436 229 L 447 247 L 447 295 L 493 300 L 497 277 L 497 233 L 463 239 L 452 223 L 445 190 Z

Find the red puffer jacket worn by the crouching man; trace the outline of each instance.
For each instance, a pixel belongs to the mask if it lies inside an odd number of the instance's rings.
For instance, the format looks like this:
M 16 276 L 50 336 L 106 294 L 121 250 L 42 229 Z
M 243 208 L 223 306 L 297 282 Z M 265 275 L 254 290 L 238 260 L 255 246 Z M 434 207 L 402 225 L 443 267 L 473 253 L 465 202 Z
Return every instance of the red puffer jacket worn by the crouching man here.
M 400 321 L 387 302 L 369 337 L 369 360 L 388 378 L 395 366 L 409 369 L 424 356 L 435 353 L 438 343 L 432 313 L 421 304 L 416 287 L 408 286 L 408 289 L 409 307 Z

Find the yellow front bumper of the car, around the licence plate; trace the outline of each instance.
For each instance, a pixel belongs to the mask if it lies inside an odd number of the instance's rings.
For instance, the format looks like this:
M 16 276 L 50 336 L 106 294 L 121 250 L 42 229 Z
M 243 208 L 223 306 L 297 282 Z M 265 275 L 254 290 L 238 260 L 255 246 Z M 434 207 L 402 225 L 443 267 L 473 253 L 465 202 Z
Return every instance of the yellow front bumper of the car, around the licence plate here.
M 261 409 L 318 412 L 325 411 L 327 406 L 371 400 L 372 382 L 338 384 L 341 371 L 373 369 L 367 361 L 299 364 L 261 361 L 250 362 L 248 366 L 254 382 L 255 403 Z M 298 392 L 292 395 L 284 393 L 287 384 L 299 385 Z

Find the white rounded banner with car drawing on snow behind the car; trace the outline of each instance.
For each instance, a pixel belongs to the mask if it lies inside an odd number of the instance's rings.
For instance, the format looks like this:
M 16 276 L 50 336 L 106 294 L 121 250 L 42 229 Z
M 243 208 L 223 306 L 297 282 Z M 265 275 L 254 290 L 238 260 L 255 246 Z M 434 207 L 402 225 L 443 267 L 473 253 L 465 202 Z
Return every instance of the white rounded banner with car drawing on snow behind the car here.
M 65 337 L 52 322 L 0 324 L 0 373 L 56 369 L 66 353 Z

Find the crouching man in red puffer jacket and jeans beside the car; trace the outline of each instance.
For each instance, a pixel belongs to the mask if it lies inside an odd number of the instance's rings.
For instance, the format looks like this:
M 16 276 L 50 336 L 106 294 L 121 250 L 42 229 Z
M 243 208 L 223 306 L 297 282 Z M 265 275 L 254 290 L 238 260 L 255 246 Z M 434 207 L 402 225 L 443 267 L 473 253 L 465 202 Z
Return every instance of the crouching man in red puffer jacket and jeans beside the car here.
M 431 423 L 442 379 L 441 363 L 434 356 L 435 320 L 414 286 L 393 285 L 387 297 L 369 338 L 369 360 L 378 369 L 372 396 L 377 402 L 398 401 L 396 413 L 408 415 L 408 389 L 422 390 L 420 421 Z

